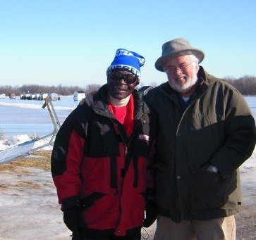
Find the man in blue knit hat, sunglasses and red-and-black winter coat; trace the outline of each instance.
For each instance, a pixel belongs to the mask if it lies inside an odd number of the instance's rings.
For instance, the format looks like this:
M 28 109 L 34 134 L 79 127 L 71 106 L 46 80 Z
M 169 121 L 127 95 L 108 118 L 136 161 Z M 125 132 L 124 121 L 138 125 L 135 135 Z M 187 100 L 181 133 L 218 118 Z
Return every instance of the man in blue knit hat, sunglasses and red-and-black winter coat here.
M 135 90 L 144 62 L 118 49 L 92 106 L 79 105 L 56 136 L 51 173 L 73 239 L 140 239 L 142 225 L 157 217 L 148 158 L 153 127 Z

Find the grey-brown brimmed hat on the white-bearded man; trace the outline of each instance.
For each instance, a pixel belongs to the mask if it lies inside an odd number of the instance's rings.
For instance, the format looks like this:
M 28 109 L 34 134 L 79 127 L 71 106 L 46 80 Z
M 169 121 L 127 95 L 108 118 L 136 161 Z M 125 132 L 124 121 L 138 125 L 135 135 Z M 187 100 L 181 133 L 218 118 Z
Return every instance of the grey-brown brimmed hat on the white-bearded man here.
M 202 60 L 205 58 L 205 54 L 202 51 L 195 49 L 193 46 L 191 46 L 190 42 L 182 38 L 173 39 L 169 42 L 166 42 L 165 44 L 163 44 L 161 49 L 161 57 L 158 58 L 156 63 L 154 64 L 155 68 L 157 68 L 157 70 L 161 72 L 164 72 L 163 67 L 166 61 L 172 58 L 176 58 L 178 56 L 191 54 L 198 58 L 199 63 L 201 63 Z

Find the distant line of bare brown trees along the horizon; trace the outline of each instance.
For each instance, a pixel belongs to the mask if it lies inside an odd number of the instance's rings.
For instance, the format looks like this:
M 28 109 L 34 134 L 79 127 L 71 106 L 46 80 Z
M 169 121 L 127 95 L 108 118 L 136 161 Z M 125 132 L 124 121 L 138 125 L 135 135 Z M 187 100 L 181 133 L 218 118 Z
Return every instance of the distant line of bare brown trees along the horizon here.
M 224 78 L 226 82 L 233 85 L 240 91 L 243 95 L 256 95 L 256 77 L 245 75 L 244 77 L 240 77 L 238 79 L 234 79 L 231 77 Z M 152 85 L 157 86 L 157 81 L 155 81 Z M 11 96 L 11 94 L 16 94 L 19 96 L 20 94 L 36 94 L 36 93 L 56 93 L 59 95 L 72 95 L 74 91 L 84 91 L 85 94 L 90 93 L 91 91 L 95 91 L 101 87 L 100 84 L 88 84 L 85 87 L 79 86 L 66 86 L 59 84 L 58 86 L 40 86 L 37 84 L 24 84 L 21 87 L 11 87 L 9 85 L 0 86 L 0 94 L 6 94 L 6 96 Z

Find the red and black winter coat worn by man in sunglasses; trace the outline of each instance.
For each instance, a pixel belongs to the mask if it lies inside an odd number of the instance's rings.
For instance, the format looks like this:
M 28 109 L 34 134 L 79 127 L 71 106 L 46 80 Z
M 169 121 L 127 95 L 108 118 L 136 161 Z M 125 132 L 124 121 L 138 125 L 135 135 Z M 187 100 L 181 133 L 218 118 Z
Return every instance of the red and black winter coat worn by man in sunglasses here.
M 144 219 L 146 190 L 152 187 L 150 111 L 133 92 L 134 131 L 130 138 L 109 111 L 106 85 L 91 107 L 78 106 L 66 118 L 54 142 L 51 173 L 59 203 L 78 196 L 85 232 L 124 236 Z

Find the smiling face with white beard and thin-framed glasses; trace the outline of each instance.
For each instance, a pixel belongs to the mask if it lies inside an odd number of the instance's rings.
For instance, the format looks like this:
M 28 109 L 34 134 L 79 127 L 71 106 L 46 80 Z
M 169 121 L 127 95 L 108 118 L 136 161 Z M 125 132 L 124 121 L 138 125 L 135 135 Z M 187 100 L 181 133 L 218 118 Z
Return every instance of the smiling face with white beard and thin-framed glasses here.
M 198 70 L 198 63 L 190 55 L 178 56 L 164 64 L 170 86 L 182 96 L 191 96 L 195 91 Z

